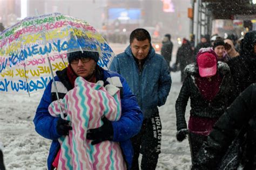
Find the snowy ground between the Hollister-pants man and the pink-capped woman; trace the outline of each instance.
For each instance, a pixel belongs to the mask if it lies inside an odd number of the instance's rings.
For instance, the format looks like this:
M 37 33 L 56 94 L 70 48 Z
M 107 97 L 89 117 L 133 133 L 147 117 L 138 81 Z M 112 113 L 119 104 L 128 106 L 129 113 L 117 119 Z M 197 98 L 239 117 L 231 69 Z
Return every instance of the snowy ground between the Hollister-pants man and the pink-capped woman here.
M 172 87 L 165 105 L 159 108 L 162 123 L 161 153 L 158 159 L 157 169 L 190 169 L 191 157 L 188 140 L 181 143 L 176 140 L 176 112 L 175 102 L 181 88 L 180 72 L 171 73 Z M 188 105 L 190 105 L 188 103 Z M 187 106 L 188 118 L 190 107 Z

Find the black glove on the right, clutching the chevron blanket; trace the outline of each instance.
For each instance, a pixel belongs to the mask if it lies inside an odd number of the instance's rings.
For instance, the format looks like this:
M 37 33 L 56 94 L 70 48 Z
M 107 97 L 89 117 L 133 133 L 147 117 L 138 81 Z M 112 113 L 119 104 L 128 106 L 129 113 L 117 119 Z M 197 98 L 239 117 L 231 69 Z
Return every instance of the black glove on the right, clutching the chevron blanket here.
M 105 117 L 102 118 L 103 125 L 96 129 L 90 129 L 87 131 L 86 138 L 92 140 L 92 145 L 98 144 L 105 140 L 113 139 L 113 126 L 112 123 Z

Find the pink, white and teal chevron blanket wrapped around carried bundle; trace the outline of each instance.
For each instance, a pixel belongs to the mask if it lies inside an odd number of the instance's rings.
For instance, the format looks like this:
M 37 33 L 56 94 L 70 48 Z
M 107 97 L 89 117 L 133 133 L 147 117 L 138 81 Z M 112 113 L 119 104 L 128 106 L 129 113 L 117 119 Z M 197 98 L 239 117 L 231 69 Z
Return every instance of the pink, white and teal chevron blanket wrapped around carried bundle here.
M 91 145 L 86 139 L 89 129 L 103 125 L 105 116 L 110 121 L 118 121 L 121 115 L 119 89 L 111 84 L 103 87 L 103 81 L 87 82 L 77 77 L 75 88 L 59 100 L 66 120 L 71 121 L 72 130 L 68 136 L 60 137 L 61 145 L 58 169 L 126 169 L 119 143 L 103 141 Z M 48 108 L 52 116 L 60 116 L 58 101 Z

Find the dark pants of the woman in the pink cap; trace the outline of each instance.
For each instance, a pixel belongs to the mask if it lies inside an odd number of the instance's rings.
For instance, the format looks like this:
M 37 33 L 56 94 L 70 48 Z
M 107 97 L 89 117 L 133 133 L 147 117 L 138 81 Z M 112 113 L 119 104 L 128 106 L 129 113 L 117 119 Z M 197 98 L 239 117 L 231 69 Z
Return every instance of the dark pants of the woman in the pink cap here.
M 190 153 L 191 153 L 191 161 L 194 163 L 194 159 L 198 154 L 203 142 L 207 140 L 207 136 L 203 136 L 200 134 L 192 133 L 188 135 L 188 141 L 190 143 Z

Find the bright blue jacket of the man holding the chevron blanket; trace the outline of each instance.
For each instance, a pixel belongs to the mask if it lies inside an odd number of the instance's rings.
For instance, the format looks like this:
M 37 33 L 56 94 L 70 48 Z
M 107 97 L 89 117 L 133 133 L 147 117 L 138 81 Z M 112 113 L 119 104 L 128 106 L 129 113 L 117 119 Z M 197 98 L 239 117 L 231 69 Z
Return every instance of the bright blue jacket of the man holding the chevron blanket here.
M 66 76 L 66 70 L 63 70 Z M 126 163 L 131 168 L 133 149 L 131 145 L 130 138 L 137 134 L 141 128 L 143 122 L 142 111 L 140 110 L 136 97 L 132 94 L 128 84 L 125 79 L 117 73 L 109 72 L 107 70 L 101 69 L 102 74 L 101 79 L 106 82 L 109 77 L 117 76 L 122 83 L 122 116 L 119 121 L 112 122 L 113 125 L 113 141 L 117 141 L 122 148 Z M 57 74 L 58 75 L 58 74 Z M 63 77 L 55 77 L 56 83 L 59 84 Z M 69 89 L 69 88 L 68 88 Z M 70 90 L 70 89 L 69 89 Z M 61 91 L 61 90 L 60 90 Z M 58 91 L 60 94 L 61 92 Z M 48 156 L 48 169 L 52 168 L 52 162 L 56 157 L 56 154 L 60 148 L 58 143 L 58 138 L 60 137 L 56 131 L 57 118 L 52 117 L 48 112 L 48 107 L 52 102 L 52 81 L 46 87 L 41 102 L 36 110 L 36 115 L 33 120 L 35 123 L 36 131 L 41 136 L 51 139 L 52 144 Z

